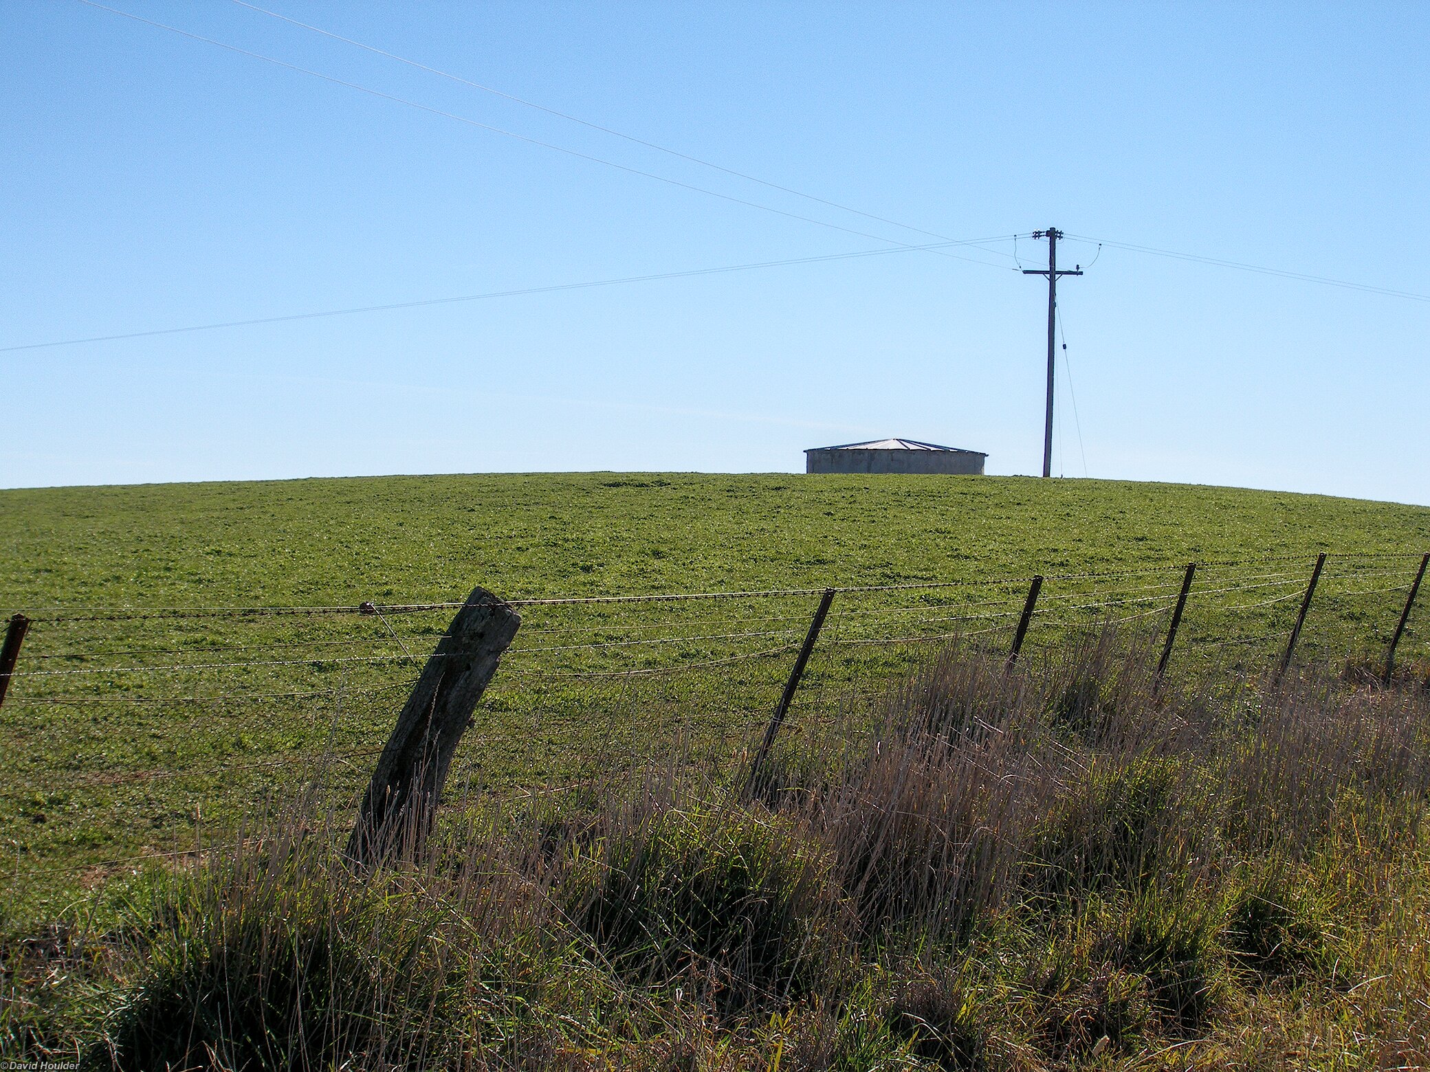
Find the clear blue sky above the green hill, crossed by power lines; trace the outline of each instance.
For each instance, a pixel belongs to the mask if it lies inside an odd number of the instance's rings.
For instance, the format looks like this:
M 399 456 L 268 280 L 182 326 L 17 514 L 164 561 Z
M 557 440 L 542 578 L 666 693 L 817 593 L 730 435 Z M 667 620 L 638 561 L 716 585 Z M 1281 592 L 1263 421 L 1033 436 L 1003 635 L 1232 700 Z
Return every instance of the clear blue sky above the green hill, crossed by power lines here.
M 233 3 L 114 0 L 430 109 L 901 243 Z M 359 4 L 293 19 L 955 239 L 1048 224 L 1430 294 L 1426 4 Z M 888 243 L 76 0 L 0 33 L 0 346 Z M 1065 243 L 1087 264 L 1094 246 Z M 0 353 L 0 485 L 1041 459 L 1012 242 Z M 1045 247 L 1020 240 L 1028 264 Z M 1430 503 L 1430 303 L 1104 249 L 1054 472 Z

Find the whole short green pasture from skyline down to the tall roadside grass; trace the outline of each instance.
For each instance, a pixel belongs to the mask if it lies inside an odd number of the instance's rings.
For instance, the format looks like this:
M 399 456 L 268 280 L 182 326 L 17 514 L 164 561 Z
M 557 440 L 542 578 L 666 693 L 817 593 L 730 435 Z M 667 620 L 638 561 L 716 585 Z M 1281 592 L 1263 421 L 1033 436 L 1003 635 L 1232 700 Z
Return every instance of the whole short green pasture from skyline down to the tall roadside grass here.
M 1107 619 L 1163 629 L 1181 565 L 1211 563 L 1178 659 L 1260 666 L 1316 553 L 1333 552 L 1306 657 L 1373 659 L 1427 547 L 1426 507 L 1098 480 L 581 473 L 6 490 L 0 609 L 34 625 L 0 709 L 0 898 L 19 912 L 137 856 L 222 840 L 317 772 L 335 802 L 358 792 L 453 613 L 162 616 L 173 610 L 456 602 L 475 585 L 508 599 L 799 590 L 523 606 L 455 770 L 513 792 L 609 772 L 676 730 L 738 756 L 804 635 L 805 589 L 882 590 L 837 597 L 791 732 L 867 703 L 938 637 L 1005 645 L 1032 573 L 1050 576 L 1035 646 Z M 884 587 L 925 583 L 945 587 Z M 882 643 L 901 637 L 915 640 Z M 1427 637 L 1421 610 L 1404 657 L 1424 657 Z

